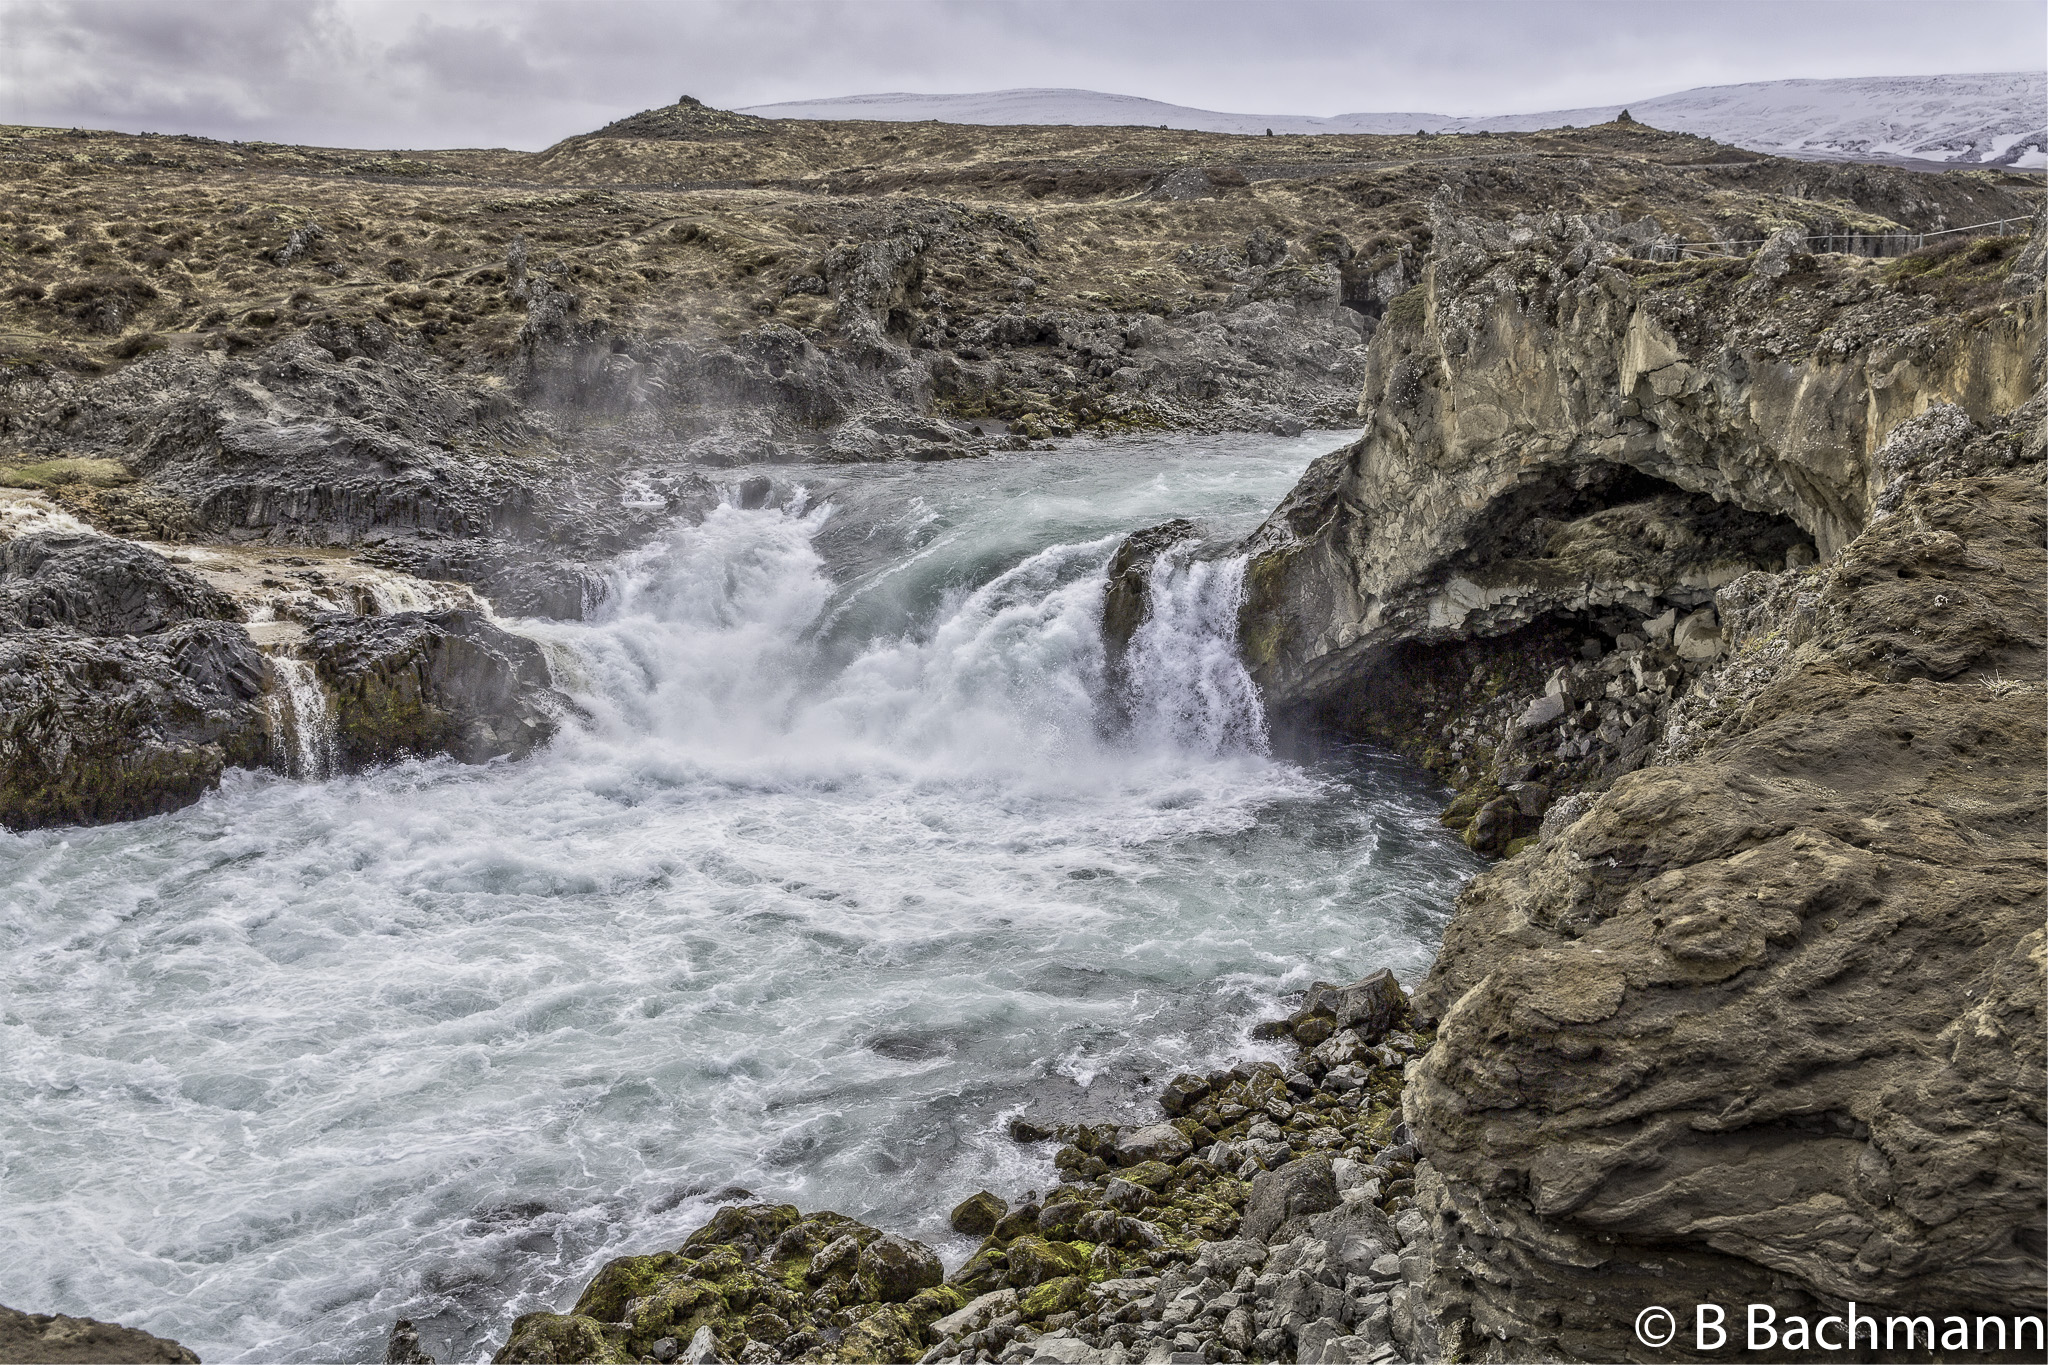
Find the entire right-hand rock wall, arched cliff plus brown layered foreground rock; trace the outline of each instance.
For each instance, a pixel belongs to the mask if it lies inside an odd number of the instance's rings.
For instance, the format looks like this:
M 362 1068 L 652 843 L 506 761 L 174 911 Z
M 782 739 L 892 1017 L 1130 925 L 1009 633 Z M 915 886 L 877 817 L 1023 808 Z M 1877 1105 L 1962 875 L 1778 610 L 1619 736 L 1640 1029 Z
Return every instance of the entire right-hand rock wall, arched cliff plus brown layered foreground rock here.
M 1253 538 L 1276 706 L 1513 853 L 1417 995 L 1446 1351 L 2040 1310 L 2044 227 L 1647 266 L 1440 205 L 1368 434 Z

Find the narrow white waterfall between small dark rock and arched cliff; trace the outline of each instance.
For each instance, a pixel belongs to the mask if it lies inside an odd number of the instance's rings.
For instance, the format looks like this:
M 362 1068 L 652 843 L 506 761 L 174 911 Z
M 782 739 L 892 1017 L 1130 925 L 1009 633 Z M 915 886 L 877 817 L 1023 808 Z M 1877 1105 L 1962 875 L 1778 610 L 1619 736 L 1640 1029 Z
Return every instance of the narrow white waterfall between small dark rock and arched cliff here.
M 1266 753 L 1266 708 L 1237 655 L 1245 559 L 1159 555 L 1124 663 L 1130 731 L 1196 753 Z

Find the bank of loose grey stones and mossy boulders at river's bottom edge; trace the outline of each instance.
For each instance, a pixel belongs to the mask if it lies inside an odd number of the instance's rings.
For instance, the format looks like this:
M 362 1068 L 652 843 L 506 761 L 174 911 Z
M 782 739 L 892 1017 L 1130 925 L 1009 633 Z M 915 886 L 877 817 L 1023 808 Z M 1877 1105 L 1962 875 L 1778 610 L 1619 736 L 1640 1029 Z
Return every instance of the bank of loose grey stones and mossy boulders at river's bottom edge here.
M 1401 1119 L 1430 1036 L 1386 972 L 1317 984 L 1262 1033 L 1300 1050 L 1176 1076 L 1155 1124 L 1012 1121 L 1061 1144 L 1059 1185 L 963 1201 L 952 1228 L 983 1240 L 952 1275 L 840 1214 L 741 1203 L 676 1252 L 612 1261 L 567 1314 L 520 1318 L 494 1359 L 1438 1359 L 1434 1175 Z

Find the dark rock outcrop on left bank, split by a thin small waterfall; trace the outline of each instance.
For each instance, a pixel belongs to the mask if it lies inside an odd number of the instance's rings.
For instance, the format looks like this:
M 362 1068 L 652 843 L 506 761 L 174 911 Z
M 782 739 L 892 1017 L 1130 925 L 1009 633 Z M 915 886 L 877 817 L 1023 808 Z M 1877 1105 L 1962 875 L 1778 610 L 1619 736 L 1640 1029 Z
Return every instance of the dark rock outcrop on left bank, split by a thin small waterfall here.
M 258 649 L 246 614 L 133 540 L 76 524 L 0 538 L 0 825 L 176 810 L 227 767 L 293 772 L 295 749 L 328 745 L 293 731 L 330 716 L 338 769 L 516 757 L 553 733 L 561 702 L 541 649 L 475 612 L 313 614 L 317 714 L 297 714 L 311 698 L 287 704 L 281 671 L 297 655 Z

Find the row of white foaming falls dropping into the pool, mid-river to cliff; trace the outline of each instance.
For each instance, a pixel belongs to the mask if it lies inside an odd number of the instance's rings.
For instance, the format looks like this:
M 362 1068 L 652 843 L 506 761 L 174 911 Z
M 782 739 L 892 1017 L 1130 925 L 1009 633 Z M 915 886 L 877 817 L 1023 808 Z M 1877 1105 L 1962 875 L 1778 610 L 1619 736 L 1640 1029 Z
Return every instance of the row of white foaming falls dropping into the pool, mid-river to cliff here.
M 1102 589 L 1118 538 L 1053 544 L 907 634 L 836 665 L 819 649 L 831 581 L 813 512 L 715 510 L 627 561 L 598 622 L 551 636 L 582 657 L 594 739 L 637 751 L 805 772 L 1018 774 L 1071 780 L 1155 755 L 1266 751 L 1237 661 L 1243 563 L 1161 559 L 1130 649 L 1135 724 L 1092 743 L 1104 710 Z

